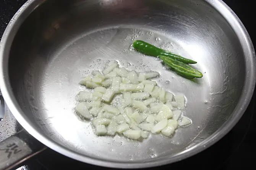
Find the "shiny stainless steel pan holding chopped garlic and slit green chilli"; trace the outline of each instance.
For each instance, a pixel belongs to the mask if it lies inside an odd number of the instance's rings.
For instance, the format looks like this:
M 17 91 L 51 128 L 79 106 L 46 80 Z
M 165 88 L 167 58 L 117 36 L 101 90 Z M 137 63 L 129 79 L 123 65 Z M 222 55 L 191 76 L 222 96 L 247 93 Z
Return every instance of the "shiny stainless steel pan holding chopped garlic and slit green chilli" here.
M 204 77 L 191 81 L 165 70 L 130 50 L 134 39 L 196 60 Z M 79 80 L 107 60 L 159 71 L 160 86 L 186 95 L 192 126 L 143 142 L 94 135 L 73 113 L 74 97 Z M 0 85 L 15 118 L 49 148 L 105 167 L 153 167 L 193 156 L 232 129 L 253 94 L 255 61 L 245 27 L 221 0 L 29 0 L 3 34 Z

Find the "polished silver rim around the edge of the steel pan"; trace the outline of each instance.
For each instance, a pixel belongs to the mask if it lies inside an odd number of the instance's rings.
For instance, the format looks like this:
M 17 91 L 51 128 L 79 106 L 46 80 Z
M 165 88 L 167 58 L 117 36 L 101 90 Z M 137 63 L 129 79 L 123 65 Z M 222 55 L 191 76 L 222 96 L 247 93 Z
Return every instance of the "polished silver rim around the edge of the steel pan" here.
M 10 52 L 10 44 L 13 38 L 29 14 L 34 11 L 38 6 L 41 5 L 45 0 L 28 0 L 13 16 L 9 24 L 7 25 L 5 32 L 3 33 L 2 39 L 0 41 L 0 89 L 4 96 L 6 104 L 9 106 L 11 113 L 15 116 L 17 121 L 26 129 L 33 137 L 41 141 L 44 145 L 49 148 L 65 155 L 70 158 L 79 160 L 81 162 L 86 162 L 93 165 L 99 165 L 111 168 L 146 168 L 146 167 L 156 167 L 160 165 L 170 164 L 173 162 L 186 159 L 193 156 L 209 146 L 213 145 L 219 141 L 224 135 L 226 135 L 234 126 L 237 124 L 246 108 L 248 107 L 251 97 L 253 95 L 255 83 L 256 83 L 256 58 L 253 43 L 251 38 L 242 24 L 238 16 L 229 8 L 222 0 L 205 0 L 209 3 L 215 10 L 217 10 L 231 25 L 232 29 L 235 31 L 246 56 L 246 68 L 248 71 L 245 76 L 245 84 L 243 87 L 243 92 L 241 98 L 233 111 L 233 115 L 211 136 L 206 138 L 204 141 L 198 143 L 197 145 L 186 149 L 185 151 L 172 155 L 170 159 L 164 160 L 154 160 L 151 159 L 150 162 L 114 162 L 109 160 L 103 160 L 94 157 L 84 156 L 82 154 L 76 153 L 68 148 L 63 147 L 57 142 L 51 140 L 46 135 L 42 134 L 37 130 L 32 122 L 27 118 L 26 114 L 21 110 L 18 102 L 16 101 L 14 94 L 9 82 L 8 75 L 8 56 Z M 9 46 L 8 46 L 9 44 Z M 7 60 L 7 61 L 6 61 Z M 5 62 L 6 61 L 6 62 Z

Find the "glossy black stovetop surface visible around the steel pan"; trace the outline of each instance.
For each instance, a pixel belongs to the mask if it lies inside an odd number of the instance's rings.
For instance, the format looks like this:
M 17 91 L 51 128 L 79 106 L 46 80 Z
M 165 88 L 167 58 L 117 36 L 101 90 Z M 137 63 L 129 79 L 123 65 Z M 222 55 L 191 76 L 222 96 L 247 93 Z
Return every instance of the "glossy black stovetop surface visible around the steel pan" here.
M 18 8 L 26 0 L 0 0 L 0 37 L 5 30 L 6 25 Z M 224 0 L 240 17 L 241 21 L 248 30 L 253 42 L 256 42 L 254 32 L 254 6 L 250 0 Z M 252 18 L 252 19 L 251 19 Z M 255 45 L 254 45 L 255 46 Z M 240 168 L 254 167 L 254 153 L 256 153 L 255 141 L 256 135 L 256 116 L 253 116 L 255 101 L 255 92 L 253 99 L 248 106 L 245 114 L 238 124 L 215 145 L 205 151 L 196 154 L 180 162 L 165 165 L 162 167 L 149 169 L 188 169 L 196 168 L 197 170 L 233 170 Z M 14 169 L 18 170 L 57 170 L 57 169 L 110 169 L 85 164 L 76 160 L 65 157 L 51 149 L 46 149 L 41 154 L 32 157 L 23 164 Z

